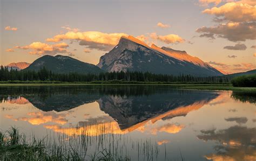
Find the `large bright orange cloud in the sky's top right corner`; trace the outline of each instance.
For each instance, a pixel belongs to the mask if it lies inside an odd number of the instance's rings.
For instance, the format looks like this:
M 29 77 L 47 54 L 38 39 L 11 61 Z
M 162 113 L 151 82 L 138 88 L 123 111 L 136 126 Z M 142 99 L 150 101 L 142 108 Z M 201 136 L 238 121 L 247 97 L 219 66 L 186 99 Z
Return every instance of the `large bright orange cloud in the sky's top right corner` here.
M 256 6 L 243 2 L 230 2 L 219 7 L 206 9 L 203 13 L 214 15 L 219 21 L 252 22 L 256 21 Z M 220 17 L 220 19 L 219 19 Z

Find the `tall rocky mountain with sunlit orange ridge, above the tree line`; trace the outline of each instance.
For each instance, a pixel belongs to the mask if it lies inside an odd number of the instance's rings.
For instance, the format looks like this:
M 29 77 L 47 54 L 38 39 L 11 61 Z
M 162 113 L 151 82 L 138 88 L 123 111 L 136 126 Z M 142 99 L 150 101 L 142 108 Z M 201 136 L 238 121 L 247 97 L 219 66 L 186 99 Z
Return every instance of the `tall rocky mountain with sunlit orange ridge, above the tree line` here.
M 219 76 L 223 73 L 185 51 L 151 47 L 132 36 L 121 37 L 118 45 L 100 57 L 98 67 L 108 72 L 141 71 L 157 74 Z

